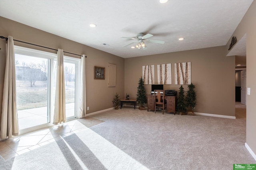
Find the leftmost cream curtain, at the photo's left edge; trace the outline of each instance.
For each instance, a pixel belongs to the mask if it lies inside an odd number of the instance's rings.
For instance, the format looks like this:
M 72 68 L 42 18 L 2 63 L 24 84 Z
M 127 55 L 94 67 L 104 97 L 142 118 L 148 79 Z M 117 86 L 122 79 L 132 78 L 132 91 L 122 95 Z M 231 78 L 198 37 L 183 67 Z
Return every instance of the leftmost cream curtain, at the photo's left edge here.
M 16 106 L 16 75 L 15 75 L 14 42 L 8 37 L 6 48 L 6 66 L 4 73 L 4 91 L 0 127 L 0 140 L 19 135 L 18 113 Z

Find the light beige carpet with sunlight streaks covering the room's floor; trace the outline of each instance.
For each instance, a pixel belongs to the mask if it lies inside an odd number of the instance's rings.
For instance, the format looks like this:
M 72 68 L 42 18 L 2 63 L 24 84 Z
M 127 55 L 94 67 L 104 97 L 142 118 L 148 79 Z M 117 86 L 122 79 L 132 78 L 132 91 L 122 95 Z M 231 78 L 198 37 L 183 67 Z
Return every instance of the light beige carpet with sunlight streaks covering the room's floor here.
M 0 158 L 0 169 L 231 170 L 233 164 L 256 164 L 244 146 L 244 119 L 128 107 L 90 117 L 102 123 L 14 158 Z

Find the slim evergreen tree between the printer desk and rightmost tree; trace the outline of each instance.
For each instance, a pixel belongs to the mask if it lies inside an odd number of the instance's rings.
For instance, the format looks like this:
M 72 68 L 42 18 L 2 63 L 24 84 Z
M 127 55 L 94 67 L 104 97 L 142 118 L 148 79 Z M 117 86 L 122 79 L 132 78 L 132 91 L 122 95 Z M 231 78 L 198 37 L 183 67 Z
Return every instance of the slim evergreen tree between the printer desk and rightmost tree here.
M 182 85 L 180 86 L 179 91 L 178 91 L 178 100 L 177 100 L 177 104 L 176 104 L 176 111 L 180 115 L 186 114 L 186 111 L 187 111 L 186 100 L 185 100 L 185 96 L 184 96 L 184 88 L 182 87 Z

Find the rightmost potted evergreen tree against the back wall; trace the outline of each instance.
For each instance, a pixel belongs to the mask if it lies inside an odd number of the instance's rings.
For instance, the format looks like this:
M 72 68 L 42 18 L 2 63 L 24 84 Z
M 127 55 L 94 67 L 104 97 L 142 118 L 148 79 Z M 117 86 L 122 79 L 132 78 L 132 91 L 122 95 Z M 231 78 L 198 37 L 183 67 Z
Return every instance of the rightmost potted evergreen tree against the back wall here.
M 193 109 L 196 107 L 196 92 L 194 90 L 195 85 L 193 83 L 188 85 L 188 91 L 186 96 L 186 104 L 188 106 L 188 115 L 194 115 Z

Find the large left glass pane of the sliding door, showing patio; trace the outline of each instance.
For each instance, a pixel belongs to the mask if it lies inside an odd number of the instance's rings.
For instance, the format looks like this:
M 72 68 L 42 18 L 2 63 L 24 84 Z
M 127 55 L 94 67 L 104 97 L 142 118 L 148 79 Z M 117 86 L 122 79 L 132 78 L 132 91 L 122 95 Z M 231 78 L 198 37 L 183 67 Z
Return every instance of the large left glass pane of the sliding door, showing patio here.
M 15 63 L 20 129 L 49 123 L 49 59 L 16 54 Z

